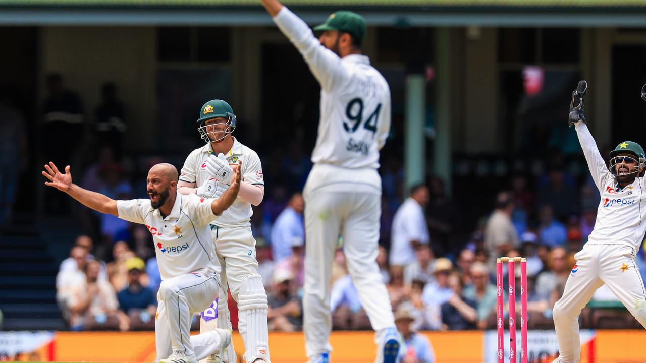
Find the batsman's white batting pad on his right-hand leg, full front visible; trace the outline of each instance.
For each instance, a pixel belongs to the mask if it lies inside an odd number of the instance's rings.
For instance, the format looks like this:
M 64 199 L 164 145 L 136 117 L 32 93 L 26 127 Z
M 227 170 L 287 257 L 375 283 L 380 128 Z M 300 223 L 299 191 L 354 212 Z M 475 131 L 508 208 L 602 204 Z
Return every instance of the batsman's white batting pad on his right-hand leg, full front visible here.
M 244 340 L 247 362 L 258 358 L 269 362 L 268 308 L 262 277 L 258 274 L 246 276 L 238 294 L 238 330 Z

